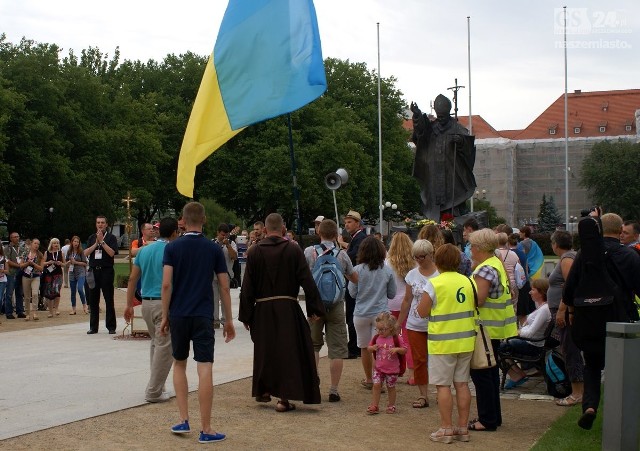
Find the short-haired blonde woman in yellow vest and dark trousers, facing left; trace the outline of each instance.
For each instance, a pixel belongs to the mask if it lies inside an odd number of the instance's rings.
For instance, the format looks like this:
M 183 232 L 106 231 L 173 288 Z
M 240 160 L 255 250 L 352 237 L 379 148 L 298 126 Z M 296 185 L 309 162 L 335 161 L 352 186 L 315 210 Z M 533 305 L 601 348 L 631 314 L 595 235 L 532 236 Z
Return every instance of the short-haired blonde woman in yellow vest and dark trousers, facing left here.
M 481 229 L 469 235 L 473 280 L 478 287 L 480 320 L 491 337 L 495 354 L 500 340 L 518 334 L 513 310 L 509 276 L 502 261 L 496 257 L 498 237 L 491 229 Z M 502 425 L 500 411 L 500 374 L 497 366 L 471 370 L 476 388 L 478 418 L 469 422 L 472 431 L 495 431 Z

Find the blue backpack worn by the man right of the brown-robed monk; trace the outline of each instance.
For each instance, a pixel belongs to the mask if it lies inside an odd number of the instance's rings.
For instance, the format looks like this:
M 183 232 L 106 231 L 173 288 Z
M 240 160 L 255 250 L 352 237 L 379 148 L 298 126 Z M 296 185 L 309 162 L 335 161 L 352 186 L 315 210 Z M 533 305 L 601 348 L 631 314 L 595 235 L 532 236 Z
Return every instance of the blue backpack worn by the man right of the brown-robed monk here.
M 340 249 L 337 247 L 326 249 L 323 245 L 314 246 L 313 248 L 318 257 L 313 265 L 311 274 L 318 286 L 320 299 L 322 299 L 325 309 L 329 310 L 334 303 L 344 298 L 344 290 L 346 288 L 344 273 L 340 262 L 336 258 L 340 253 Z

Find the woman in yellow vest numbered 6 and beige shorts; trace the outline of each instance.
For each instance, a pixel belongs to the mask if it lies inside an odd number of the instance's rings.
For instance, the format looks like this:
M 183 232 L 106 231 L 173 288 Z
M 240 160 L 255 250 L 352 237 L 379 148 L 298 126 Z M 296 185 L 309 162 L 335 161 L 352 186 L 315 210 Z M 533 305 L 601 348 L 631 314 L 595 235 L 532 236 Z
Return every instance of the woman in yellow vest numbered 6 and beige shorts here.
M 427 281 L 417 312 L 429 316 L 429 382 L 438 390 L 440 429 L 429 438 L 434 442 L 469 441 L 469 370 L 475 346 L 476 324 L 473 282 L 458 274 L 460 249 L 453 244 L 438 248 L 435 263 L 440 275 Z M 453 427 L 453 397 L 456 388 L 458 425 Z

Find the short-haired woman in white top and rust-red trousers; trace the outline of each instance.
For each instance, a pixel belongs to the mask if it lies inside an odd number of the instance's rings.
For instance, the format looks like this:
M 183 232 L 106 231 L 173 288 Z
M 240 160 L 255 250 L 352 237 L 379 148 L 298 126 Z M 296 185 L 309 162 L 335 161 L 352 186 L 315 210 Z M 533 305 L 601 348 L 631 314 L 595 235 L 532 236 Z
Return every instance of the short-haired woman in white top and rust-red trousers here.
M 413 379 L 420 394 L 413 402 L 413 407 L 422 409 L 429 407 L 429 372 L 427 370 L 427 328 L 429 320 L 421 318 L 416 308 L 422 298 L 427 280 L 440 274 L 433 262 L 433 246 L 427 240 L 416 240 L 411 249 L 418 267 L 413 268 L 405 277 L 407 287 L 398 322 L 407 323 L 407 336 L 413 358 Z

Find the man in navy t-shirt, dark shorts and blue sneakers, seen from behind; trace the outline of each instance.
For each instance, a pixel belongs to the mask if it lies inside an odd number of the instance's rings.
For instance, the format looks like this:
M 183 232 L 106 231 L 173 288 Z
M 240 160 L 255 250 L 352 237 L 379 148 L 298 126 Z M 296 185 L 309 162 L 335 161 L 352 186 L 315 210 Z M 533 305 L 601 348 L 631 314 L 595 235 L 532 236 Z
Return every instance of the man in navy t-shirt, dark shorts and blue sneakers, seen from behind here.
M 193 342 L 193 359 L 198 362 L 198 400 L 202 430 L 200 442 L 225 439 L 211 429 L 213 403 L 213 275 L 218 278 L 220 299 L 226 321 L 225 342 L 233 340 L 236 331 L 231 313 L 229 274 L 224 254 L 218 245 L 202 234 L 206 222 L 204 206 L 189 202 L 182 210 L 185 233 L 164 251 L 162 272 L 162 333 L 171 331 L 173 348 L 173 386 L 176 391 L 180 423 L 171 428 L 175 434 L 190 432 L 187 393 L 187 358 Z

